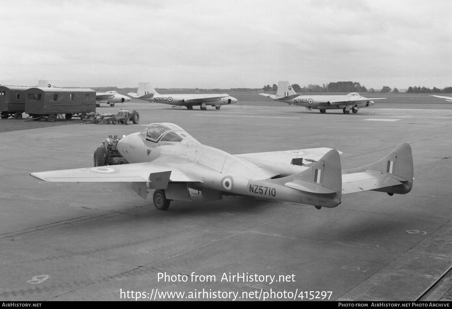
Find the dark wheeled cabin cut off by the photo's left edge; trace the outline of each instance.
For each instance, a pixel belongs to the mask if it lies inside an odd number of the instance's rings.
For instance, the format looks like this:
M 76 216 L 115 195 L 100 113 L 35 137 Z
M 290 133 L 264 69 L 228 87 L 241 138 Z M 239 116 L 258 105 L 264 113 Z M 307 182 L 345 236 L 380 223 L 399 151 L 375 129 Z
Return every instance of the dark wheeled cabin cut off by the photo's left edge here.
M 0 116 L 5 119 L 13 116 L 22 118 L 25 112 L 25 90 L 29 87 L 0 86 Z

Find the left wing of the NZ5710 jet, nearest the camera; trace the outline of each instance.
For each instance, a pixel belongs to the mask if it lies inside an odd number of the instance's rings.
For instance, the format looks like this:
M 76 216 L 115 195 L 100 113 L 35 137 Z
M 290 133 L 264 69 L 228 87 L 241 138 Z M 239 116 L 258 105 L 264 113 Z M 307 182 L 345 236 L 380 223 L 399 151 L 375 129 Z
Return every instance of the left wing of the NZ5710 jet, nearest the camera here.
M 96 166 L 83 169 L 30 173 L 34 178 L 49 182 L 146 182 L 155 173 L 171 172 L 169 181 L 200 182 L 198 179 L 165 163 L 143 162 Z

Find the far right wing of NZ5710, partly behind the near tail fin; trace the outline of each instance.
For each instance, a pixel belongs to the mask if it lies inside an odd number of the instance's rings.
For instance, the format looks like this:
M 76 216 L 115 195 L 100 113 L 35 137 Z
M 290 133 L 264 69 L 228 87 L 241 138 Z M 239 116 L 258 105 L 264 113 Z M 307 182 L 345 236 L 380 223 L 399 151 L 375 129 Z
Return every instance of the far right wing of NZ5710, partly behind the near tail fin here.
M 245 159 L 258 159 L 271 161 L 276 163 L 285 163 L 291 164 L 292 159 L 303 159 L 303 164 L 309 164 L 310 161 L 306 161 L 306 159 L 311 159 L 317 161 L 325 154 L 327 154 L 331 148 L 311 148 L 311 149 L 297 149 L 297 150 L 282 150 L 282 151 L 270 151 L 270 152 L 258 152 L 253 154 L 240 154 L 235 155 L 239 158 Z M 342 154 L 339 151 L 339 154 Z

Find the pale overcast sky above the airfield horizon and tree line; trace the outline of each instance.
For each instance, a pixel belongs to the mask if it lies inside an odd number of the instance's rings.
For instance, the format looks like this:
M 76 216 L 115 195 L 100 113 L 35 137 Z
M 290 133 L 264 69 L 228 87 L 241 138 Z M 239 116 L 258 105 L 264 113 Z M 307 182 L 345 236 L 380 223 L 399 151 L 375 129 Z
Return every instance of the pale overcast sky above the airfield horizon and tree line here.
M 2 0 L 0 15 L 0 84 L 452 86 L 451 0 Z

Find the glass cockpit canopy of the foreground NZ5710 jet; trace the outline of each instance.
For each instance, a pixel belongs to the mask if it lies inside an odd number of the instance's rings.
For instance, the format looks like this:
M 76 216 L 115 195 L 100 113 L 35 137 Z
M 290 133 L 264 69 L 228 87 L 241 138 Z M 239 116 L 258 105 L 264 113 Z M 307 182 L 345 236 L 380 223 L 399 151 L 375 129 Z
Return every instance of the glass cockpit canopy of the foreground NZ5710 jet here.
M 146 140 L 151 140 L 155 143 L 158 141 L 181 142 L 185 138 L 192 138 L 180 126 L 169 122 L 151 123 L 146 127 L 146 130 L 141 132 L 141 135 L 145 136 Z

